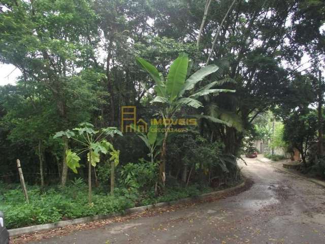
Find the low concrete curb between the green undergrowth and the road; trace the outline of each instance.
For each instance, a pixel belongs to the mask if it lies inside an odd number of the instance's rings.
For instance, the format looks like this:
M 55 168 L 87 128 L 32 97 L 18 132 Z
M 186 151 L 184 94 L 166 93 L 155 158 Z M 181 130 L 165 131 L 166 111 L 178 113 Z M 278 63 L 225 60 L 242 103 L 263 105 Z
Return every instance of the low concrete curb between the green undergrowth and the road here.
M 95 216 L 74 219 L 74 220 L 59 221 L 59 222 L 55 222 L 55 223 L 51 223 L 51 224 L 34 225 L 34 226 L 17 228 L 17 229 L 11 229 L 8 231 L 10 233 L 10 236 L 15 236 L 15 235 L 21 235 L 21 234 L 26 234 L 26 233 L 30 233 L 30 232 L 60 228 L 60 227 L 68 226 L 68 225 L 89 223 L 89 222 L 96 221 L 96 220 L 105 220 L 105 219 L 109 219 L 112 217 L 131 215 L 131 214 L 135 214 L 137 212 L 143 212 L 145 210 L 156 208 L 156 207 L 164 207 L 164 206 L 170 206 L 170 205 L 174 205 L 174 204 L 187 203 L 187 202 L 192 202 L 193 200 L 196 200 L 196 199 L 205 199 L 208 197 L 213 197 L 213 196 L 217 196 L 220 194 L 232 192 L 234 190 L 244 187 L 245 184 L 246 184 L 246 179 L 244 178 L 244 181 L 235 187 L 231 187 L 231 188 L 216 191 L 216 192 L 210 192 L 207 194 L 202 194 L 197 197 L 192 197 L 192 198 L 187 197 L 187 198 L 183 198 L 183 199 L 179 199 L 179 200 L 171 201 L 171 202 L 159 202 L 156 204 L 150 204 L 150 205 L 146 205 L 146 206 L 128 208 L 128 209 L 125 209 L 125 211 L 123 213 L 113 213 L 113 214 L 109 214 L 109 215 L 95 215 Z

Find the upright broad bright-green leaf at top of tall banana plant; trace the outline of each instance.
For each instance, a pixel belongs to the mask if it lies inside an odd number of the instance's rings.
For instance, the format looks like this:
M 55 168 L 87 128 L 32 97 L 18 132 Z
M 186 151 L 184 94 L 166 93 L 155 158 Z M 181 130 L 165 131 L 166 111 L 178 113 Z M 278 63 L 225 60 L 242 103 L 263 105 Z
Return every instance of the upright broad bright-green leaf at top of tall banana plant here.
M 188 66 L 188 57 L 180 55 L 175 59 L 169 69 L 167 76 L 167 93 L 170 95 L 170 101 L 173 101 L 182 90 L 186 78 Z

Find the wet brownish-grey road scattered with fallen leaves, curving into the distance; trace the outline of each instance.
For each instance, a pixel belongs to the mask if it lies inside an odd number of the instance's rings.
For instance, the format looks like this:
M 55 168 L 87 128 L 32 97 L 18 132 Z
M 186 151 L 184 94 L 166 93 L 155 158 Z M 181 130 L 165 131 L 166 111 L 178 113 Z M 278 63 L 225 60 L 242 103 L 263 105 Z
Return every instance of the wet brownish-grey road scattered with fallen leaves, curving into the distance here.
M 236 196 L 32 243 L 325 243 L 325 191 L 256 159 Z M 31 243 L 31 242 L 29 242 Z

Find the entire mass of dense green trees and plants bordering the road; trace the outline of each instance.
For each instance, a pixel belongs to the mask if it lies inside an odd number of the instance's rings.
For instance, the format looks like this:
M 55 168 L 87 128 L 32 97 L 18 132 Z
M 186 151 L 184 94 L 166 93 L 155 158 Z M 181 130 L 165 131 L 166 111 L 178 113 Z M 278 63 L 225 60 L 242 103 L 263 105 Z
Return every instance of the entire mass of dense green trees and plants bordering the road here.
M 0 209 L 9 226 L 231 186 L 256 138 L 296 147 L 306 168 L 323 172 L 322 149 L 307 156 L 322 138 L 324 12 L 318 0 L 1 1 L 0 62 L 21 72 L 16 85 L 0 86 Z M 311 66 L 302 73 L 304 55 Z M 121 133 L 121 106 L 163 124 Z M 254 123 L 268 111 L 279 133 L 269 117 Z M 185 132 L 168 131 L 178 128 Z

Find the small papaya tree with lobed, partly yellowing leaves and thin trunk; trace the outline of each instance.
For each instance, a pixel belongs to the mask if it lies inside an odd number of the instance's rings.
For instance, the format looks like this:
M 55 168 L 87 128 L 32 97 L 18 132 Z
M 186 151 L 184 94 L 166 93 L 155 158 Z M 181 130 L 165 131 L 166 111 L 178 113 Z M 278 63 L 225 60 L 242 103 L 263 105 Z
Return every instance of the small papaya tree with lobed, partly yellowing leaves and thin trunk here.
M 94 126 L 90 123 L 81 123 L 79 127 L 74 128 L 72 131 L 59 131 L 53 138 L 59 138 L 66 136 L 71 138 L 83 145 L 82 148 L 77 151 L 72 151 L 68 149 L 66 151 L 66 161 L 67 165 L 74 173 L 78 173 L 77 168 L 80 167 L 79 161 L 82 153 L 87 152 L 87 161 L 88 161 L 88 201 L 92 202 L 92 188 L 91 188 L 91 166 L 96 167 L 96 164 L 100 162 L 100 154 L 109 154 L 111 156 L 110 161 L 113 164 L 114 168 L 119 162 L 119 150 L 115 150 L 112 143 L 110 143 L 106 138 L 114 137 L 114 135 L 123 134 L 115 127 L 103 128 L 99 131 L 95 131 Z M 111 171 L 111 174 L 114 174 L 114 170 Z M 111 175 L 112 176 L 112 175 Z M 111 177 L 111 179 L 114 179 Z M 113 186 L 113 190 L 112 190 Z M 111 193 L 114 192 L 114 182 L 111 182 Z

